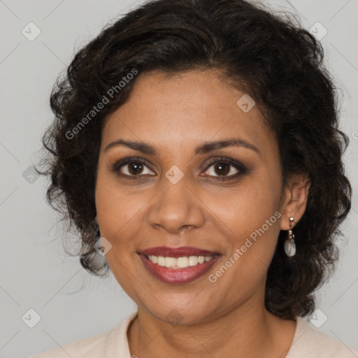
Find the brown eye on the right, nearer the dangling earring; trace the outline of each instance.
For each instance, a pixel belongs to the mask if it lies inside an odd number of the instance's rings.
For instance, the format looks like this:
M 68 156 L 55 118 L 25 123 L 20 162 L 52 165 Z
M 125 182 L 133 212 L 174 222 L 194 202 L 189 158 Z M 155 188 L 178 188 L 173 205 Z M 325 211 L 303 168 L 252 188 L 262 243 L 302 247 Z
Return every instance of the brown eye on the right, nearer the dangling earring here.
M 213 167 L 213 169 L 210 169 Z M 246 167 L 240 162 L 229 158 L 215 158 L 206 166 L 205 173 L 219 180 L 232 179 L 246 172 Z M 216 176 L 215 173 L 218 175 Z

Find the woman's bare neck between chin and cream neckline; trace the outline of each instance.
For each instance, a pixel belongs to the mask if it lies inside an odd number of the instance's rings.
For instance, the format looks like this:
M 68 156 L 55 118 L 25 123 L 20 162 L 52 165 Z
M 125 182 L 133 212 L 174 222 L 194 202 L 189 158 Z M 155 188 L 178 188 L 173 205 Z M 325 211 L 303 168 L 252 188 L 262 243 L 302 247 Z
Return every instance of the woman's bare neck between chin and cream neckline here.
M 250 305 L 250 306 L 249 306 Z M 128 329 L 131 355 L 145 357 L 286 357 L 296 322 L 252 300 L 200 324 L 173 326 L 138 307 Z

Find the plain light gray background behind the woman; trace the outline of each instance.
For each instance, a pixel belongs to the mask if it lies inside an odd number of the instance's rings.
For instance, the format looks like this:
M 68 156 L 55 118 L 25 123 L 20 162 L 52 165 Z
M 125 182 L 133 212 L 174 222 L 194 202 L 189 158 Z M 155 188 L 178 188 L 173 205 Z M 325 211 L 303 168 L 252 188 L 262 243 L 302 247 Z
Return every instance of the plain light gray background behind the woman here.
M 99 334 L 136 310 L 113 275 L 106 280 L 94 278 L 80 268 L 76 257 L 66 255 L 62 245 L 64 233 L 56 224 L 58 217 L 45 203 L 46 180 L 31 176 L 31 165 L 36 164 L 41 135 L 52 118 L 48 98 L 59 72 L 103 25 L 142 2 L 0 1 L 1 357 L 29 357 Z M 328 31 L 322 44 L 329 69 L 342 89 L 341 127 L 350 136 L 345 160 L 355 193 L 358 188 L 358 1 L 270 3 L 273 8 L 299 15 L 307 29 L 320 22 Z M 41 30 L 34 41 L 22 34 L 22 29 L 29 33 L 29 22 Z M 315 26 L 317 34 L 323 34 Z M 35 29 L 31 27 L 31 36 L 34 34 Z M 317 293 L 320 311 L 313 320 L 321 331 L 358 350 L 356 194 L 342 229 L 347 240 L 339 243 L 341 262 L 334 277 Z M 34 328 L 22 320 L 30 308 L 41 316 Z M 30 316 L 34 320 L 34 314 Z M 25 317 L 29 317 L 28 313 Z

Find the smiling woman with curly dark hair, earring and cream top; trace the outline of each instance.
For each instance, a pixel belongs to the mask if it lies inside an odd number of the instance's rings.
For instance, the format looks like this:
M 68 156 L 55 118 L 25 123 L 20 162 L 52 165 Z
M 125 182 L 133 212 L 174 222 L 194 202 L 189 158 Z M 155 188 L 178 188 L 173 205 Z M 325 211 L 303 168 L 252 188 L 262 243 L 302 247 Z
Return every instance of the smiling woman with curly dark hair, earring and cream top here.
M 355 357 L 302 318 L 350 210 L 322 56 L 239 0 L 150 1 L 77 53 L 51 95 L 48 199 L 138 311 L 36 358 Z

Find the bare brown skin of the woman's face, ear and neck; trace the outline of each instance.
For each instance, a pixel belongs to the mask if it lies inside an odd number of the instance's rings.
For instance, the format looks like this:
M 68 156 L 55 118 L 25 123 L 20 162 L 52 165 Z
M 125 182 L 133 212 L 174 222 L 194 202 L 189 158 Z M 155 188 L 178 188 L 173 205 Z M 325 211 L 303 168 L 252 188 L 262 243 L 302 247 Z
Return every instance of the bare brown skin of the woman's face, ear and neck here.
M 257 106 L 248 113 L 238 107 L 243 94 L 213 70 L 144 73 L 103 127 L 96 210 L 101 236 L 113 245 L 106 255 L 110 269 L 138 306 L 127 331 L 131 355 L 278 358 L 292 344 L 296 322 L 268 313 L 264 291 L 278 234 L 289 229 L 289 217 L 298 222 L 303 215 L 308 184 L 296 176 L 282 188 L 278 144 Z M 233 137 L 259 152 L 229 146 L 194 154 L 203 142 Z M 157 154 L 123 145 L 106 150 L 120 138 L 148 143 Z M 138 174 L 127 164 L 116 173 L 113 165 L 124 157 L 141 157 L 150 166 Z M 238 170 L 230 164 L 224 174 L 215 164 L 207 168 L 213 157 L 234 159 L 248 170 L 219 180 Z M 183 173 L 175 185 L 165 176 L 173 165 Z M 208 275 L 275 212 L 280 218 L 210 282 Z M 153 277 L 137 254 L 162 245 L 189 245 L 221 256 L 206 275 L 173 285 Z M 178 311 L 179 324 L 171 324 L 172 310 Z

